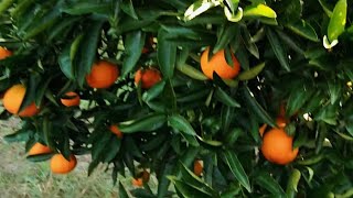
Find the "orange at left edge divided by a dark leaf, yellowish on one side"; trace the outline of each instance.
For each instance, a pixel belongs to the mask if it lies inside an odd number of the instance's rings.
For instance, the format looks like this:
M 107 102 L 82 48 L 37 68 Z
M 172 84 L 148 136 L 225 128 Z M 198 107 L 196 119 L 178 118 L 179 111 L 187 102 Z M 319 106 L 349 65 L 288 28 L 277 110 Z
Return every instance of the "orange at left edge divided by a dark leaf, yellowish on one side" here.
M 19 114 L 20 117 L 32 117 L 39 112 L 35 103 L 32 102 L 25 107 L 20 113 L 20 107 L 22 105 L 25 95 L 25 87 L 21 84 L 10 87 L 3 95 L 2 103 L 6 110 L 12 114 Z

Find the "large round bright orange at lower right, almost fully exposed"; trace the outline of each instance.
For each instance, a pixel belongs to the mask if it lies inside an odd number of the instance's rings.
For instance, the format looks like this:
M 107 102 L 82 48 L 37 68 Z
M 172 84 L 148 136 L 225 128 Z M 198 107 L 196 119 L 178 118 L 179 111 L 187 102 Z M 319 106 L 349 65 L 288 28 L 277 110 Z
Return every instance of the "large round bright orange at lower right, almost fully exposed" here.
M 298 147 L 292 150 L 293 139 L 284 129 L 274 128 L 265 133 L 261 152 L 266 160 L 271 163 L 286 165 L 291 163 L 298 155 Z

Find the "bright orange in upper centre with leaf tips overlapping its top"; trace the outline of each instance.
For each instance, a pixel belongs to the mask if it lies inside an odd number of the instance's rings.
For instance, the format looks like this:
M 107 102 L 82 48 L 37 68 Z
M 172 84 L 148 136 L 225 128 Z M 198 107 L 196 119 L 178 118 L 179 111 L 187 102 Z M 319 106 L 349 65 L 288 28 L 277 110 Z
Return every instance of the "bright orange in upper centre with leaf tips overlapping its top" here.
M 234 54 L 232 54 L 232 59 L 234 64 L 232 67 L 227 64 L 225 59 L 224 50 L 215 53 L 211 57 L 211 61 L 208 61 L 208 53 L 210 47 L 207 47 L 201 55 L 201 69 L 207 78 L 213 79 L 213 73 L 216 73 L 223 79 L 232 79 L 239 74 L 240 64 L 236 59 Z

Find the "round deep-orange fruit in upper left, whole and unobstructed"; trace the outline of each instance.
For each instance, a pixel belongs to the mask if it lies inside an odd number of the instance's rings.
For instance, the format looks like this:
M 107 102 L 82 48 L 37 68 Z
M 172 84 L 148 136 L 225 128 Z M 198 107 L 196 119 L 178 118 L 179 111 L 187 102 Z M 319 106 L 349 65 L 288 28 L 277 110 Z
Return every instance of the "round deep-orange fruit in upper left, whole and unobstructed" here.
M 119 77 L 116 65 L 106 61 L 98 61 L 93 64 L 90 73 L 86 76 L 86 82 L 92 88 L 108 88 Z

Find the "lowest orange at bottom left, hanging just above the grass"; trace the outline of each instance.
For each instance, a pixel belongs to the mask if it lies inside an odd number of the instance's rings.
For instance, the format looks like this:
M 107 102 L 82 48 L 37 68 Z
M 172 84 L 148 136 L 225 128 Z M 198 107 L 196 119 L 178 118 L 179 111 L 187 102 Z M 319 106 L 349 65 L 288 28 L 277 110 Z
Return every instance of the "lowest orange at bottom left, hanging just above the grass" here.
M 55 154 L 51 160 L 51 169 L 55 174 L 67 174 L 76 167 L 77 160 L 75 155 L 69 155 L 67 161 L 64 155 Z

